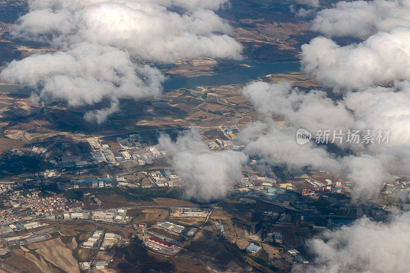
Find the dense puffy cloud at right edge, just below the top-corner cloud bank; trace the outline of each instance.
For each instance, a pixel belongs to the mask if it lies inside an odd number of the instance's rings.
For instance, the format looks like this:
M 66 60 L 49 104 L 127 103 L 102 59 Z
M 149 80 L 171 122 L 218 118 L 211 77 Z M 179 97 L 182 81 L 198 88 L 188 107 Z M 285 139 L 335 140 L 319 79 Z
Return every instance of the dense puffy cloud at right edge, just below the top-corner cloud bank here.
M 336 89 L 357 89 L 394 80 L 410 80 L 410 29 L 378 32 L 360 44 L 345 47 L 317 37 L 302 46 L 302 66 Z

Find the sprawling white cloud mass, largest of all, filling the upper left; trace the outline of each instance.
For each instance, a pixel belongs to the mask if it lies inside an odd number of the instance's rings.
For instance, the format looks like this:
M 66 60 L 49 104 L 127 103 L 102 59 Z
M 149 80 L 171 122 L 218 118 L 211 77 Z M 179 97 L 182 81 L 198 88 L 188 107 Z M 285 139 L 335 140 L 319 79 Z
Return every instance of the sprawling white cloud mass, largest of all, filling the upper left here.
M 12 26 L 16 38 L 50 43 L 57 53 L 12 61 L 2 80 L 36 88 L 34 99 L 63 99 L 70 106 L 111 106 L 85 114 L 104 120 L 120 109 L 119 98 L 158 96 L 159 70 L 135 66 L 153 61 L 215 57 L 240 59 L 242 47 L 229 24 L 214 13 L 227 0 L 31 0 Z

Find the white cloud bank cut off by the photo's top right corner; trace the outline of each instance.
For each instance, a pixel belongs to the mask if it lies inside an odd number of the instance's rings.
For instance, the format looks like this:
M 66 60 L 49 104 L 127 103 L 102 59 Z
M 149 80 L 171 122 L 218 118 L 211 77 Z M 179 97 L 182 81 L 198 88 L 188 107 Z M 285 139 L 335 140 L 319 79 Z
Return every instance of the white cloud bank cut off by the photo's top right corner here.
M 312 30 L 328 36 L 367 37 L 396 26 L 410 27 L 409 1 L 340 1 L 312 21 Z

